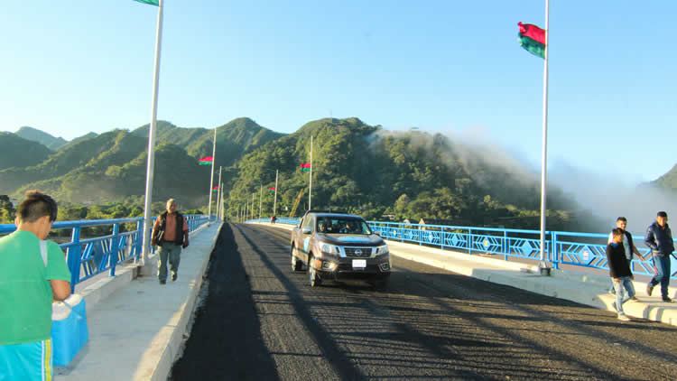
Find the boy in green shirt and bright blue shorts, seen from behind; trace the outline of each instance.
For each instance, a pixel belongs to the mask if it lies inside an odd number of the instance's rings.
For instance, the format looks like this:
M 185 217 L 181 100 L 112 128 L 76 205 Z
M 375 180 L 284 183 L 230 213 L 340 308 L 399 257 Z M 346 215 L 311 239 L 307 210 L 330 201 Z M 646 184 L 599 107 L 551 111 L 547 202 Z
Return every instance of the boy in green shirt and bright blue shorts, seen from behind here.
M 57 203 L 26 192 L 16 231 L 0 238 L 0 379 L 51 380 L 51 302 L 70 296 L 70 271 L 59 245 L 44 239 Z

